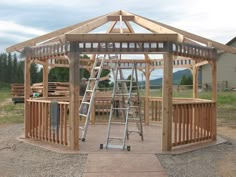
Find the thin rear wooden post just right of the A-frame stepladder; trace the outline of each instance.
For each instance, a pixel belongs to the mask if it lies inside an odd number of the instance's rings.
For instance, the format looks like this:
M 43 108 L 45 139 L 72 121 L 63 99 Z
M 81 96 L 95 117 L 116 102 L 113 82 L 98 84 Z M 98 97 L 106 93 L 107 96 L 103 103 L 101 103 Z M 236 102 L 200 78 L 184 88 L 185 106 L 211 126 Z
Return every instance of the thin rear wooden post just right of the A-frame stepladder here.
M 144 120 L 145 124 L 149 125 L 149 93 L 150 93 L 150 66 L 149 63 L 146 62 L 145 65 L 145 115 Z

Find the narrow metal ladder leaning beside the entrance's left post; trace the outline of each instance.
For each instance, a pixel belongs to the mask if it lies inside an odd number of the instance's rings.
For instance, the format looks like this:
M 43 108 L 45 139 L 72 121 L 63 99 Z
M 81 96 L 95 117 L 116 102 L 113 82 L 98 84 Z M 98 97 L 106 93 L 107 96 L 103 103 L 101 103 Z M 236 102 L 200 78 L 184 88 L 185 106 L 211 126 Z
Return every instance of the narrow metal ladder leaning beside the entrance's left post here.
M 79 116 L 81 119 L 85 120 L 84 125 L 79 127 L 82 132 L 80 138 L 82 141 L 85 141 L 86 138 L 88 124 L 90 121 L 91 109 L 94 103 L 96 88 L 98 86 L 99 79 L 102 73 L 105 57 L 105 54 L 102 56 L 97 55 L 97 58 L 95 59 L 93 67 L 91 69 L 90 78 L 88 79 L 82 102 L 79 107 Z

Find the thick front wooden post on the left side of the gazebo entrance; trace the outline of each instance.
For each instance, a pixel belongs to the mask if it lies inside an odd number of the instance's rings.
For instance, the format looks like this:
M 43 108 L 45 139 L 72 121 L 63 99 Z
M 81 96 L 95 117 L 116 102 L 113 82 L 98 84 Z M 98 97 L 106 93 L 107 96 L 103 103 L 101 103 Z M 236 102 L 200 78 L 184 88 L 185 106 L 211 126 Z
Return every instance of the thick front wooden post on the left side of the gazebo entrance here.
M 70 44 L 70 147 L 79 150 L 79 52 L 75 42 Z

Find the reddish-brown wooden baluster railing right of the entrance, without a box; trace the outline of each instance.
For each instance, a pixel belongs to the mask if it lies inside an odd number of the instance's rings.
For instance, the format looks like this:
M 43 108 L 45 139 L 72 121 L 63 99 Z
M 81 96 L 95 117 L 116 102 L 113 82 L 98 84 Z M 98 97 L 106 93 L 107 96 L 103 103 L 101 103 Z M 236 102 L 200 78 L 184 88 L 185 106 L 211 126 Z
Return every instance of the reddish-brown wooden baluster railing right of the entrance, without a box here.
M 211 139 L 214 136 L 215 102 L 173 104 L 173 146 Z

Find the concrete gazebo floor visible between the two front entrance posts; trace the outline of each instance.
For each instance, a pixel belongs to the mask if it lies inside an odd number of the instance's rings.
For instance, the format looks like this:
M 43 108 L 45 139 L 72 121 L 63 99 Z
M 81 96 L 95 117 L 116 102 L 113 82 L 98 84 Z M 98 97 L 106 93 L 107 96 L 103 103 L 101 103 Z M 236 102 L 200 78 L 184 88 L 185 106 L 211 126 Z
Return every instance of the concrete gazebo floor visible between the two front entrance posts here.
M 112 128 L 111 136 L 120 137 L 123 135 L 123 127 L 115 125 Z M 144 141 L 137 133 L 132 133 L 126 144 L 131 146 L 132 153 L 161 153 L 161 134 L 162 125 L 155 124 L 143 126 Z M 99 145 L 105 143 L 107 133 L 107 125 L 89 125 L 85 142 L 80 142 L 81 153 L 120 153 L 120 149 L 100 150 Z M 111 142 L 113 144 L 115 142 Z M 119 142 L 120 144 L 120 142 Z M 123 151 L 126 153 L 127 151 Z M 128 152 L 129 153 L 129 152 Z

